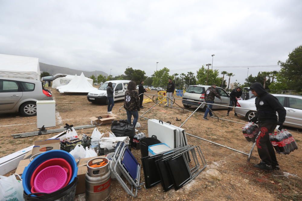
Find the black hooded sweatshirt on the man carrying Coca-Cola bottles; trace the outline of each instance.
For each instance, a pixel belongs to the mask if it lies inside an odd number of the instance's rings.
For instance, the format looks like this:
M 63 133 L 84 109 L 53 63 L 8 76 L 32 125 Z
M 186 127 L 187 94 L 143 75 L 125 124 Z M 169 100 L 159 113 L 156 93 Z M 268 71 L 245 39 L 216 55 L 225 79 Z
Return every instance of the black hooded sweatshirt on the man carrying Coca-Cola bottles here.
M 279 100 L 267 93 L 259 82 L 253 83 L 250 88 L 255 90 L 258 96 L 255 99 L 255 105 L 257 108 L 256 117 L 260 122 L 277 122 L 278 125 L 282 125 L 285 121 L 286 110 L 281 105 Z M 276 115 L 278 112 L 279 120 Z

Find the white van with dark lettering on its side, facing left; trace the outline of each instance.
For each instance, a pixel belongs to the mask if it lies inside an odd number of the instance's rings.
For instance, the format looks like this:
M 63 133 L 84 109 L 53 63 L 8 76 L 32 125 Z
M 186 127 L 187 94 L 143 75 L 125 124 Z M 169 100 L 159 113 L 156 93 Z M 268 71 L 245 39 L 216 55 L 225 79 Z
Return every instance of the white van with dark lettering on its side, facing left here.
M 114 101 L 123 100 L 130 80 L 111 80 L 104 82 L 98 89 L 87 94 L 87 100 L 92 103 L 108 104 L 106 88 L 109 82 L 112 82 Z

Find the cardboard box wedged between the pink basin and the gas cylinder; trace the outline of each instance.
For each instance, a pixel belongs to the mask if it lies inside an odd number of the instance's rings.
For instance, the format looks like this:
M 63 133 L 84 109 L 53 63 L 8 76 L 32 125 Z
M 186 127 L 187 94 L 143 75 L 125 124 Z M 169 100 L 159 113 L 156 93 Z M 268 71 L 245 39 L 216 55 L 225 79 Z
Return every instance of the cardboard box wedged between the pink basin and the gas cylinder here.
M 78 183 L 76 184 L 76 195 L 85 193 L 85 174 L 87 172 L 87 162 L 91 159 L 97 158 L 97 157 L 105 157 L 104 155 L 102 156 L 95 156 L 91 158 L 86 158 L 86 159 L 80 159 L 79 165 L 78 165 Z M 102 161 L 101 159 L 97 159 L 94 162 L 99 162 Z

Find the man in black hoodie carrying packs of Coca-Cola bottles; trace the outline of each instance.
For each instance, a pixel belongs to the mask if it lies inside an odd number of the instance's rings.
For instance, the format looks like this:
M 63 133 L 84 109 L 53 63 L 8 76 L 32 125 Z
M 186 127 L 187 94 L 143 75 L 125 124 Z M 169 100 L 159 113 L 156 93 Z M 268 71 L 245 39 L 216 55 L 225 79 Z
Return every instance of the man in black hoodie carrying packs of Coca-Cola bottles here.
M 250 122 L 259 122 L 256 146 L 262 160 L 254 167 L 263 170 L 279 170 L 275 149 L 269 140 L 269 133 L 273 133 L 277 125 L 279 125 L 278 130 L 283 128 L 286 110 L 275 96 L 265 91 L 262 84 L 255 82 L 250 86 L 250 90 L 256 96 L 255 105 L 257 109 L 255 117 Z M 278 112 L 279 119 L 276 112 Z

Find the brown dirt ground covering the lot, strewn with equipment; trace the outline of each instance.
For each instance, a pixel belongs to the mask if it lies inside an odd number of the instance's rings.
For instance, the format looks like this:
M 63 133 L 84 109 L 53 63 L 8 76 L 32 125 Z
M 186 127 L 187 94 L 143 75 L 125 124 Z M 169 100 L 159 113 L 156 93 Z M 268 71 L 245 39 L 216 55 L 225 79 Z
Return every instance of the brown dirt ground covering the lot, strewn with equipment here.
M 156 92 L 147 92 L 156 94 Z M 53 90 L 53 97 L 56 100 L 57 126 L 63 127 L 65 123 L 75 126 L 90 124 L 89 117 L 106 114 L 106 105 L 96 105 L 87 101 L 86 95 L 60 95 Z M 147 98 L 147 97 L 145 97 Z M 176 100 L 178 105 L 181 100 Z M 118 119 L 126 119 L 126 112 L 119 111 L 123 101 L 115 102 L 113 113 L 118 115 Z M 143 104 L 144 108 L 139 112 L 140 115 L 154 105 L 153 102 Z M 194 111 L 195 108 L 189 108 Z M 203 113 L 201 111 L 198 111 Z M 245 123 L 243 117 L 235 117 L 233 111 L 230 116 L 226 116 L 226 110 L 214 110 L 220 118 L 239 121 Z M 175 108 L 164 108 L 155 106 L 144 116 L 146 118 L 156 118 L 162 121 L 171 121 L 172 124 L 181 125 L 191 112 L 182 111 Z M 176 117 L 181 121 L 175 121 Z M 44 140 L 54 136 L 56 133 L 14 139 L 11 134 L 37 131 L 37 120 L 34 117 L 22 117 L 19 114 L 0 115 L 0 157 L 11 154 L 20 149 L 26 148 L 37 140 Z M 148 133 L 147 121 L 139 119 L 141 128 L 139 131 Z M 241 132 L 242 124 L 210 118 L 204 121 L 201 115 L 194 114 L 183 126 L 187 133 L 205 138 L 207 140 L 220 143 L 234 149 L 249 153 L 252 143 L 247 142 Z M 50 129 L 50 128 L 49 128 Z M 110 131 L 110 125 L 98 126 L 101 132 Z M 127 195 L 120 184 L 113 180 L 111 186 L 112 200 L 302 200 L 302 152 L 301 130 L 292 127 L 287 129 L 296 139 L 298 150 L 291 152 L 290 155 L 277 154 L 277 159 L 281 170 L 264 172 L 252 167 L 259 163 L 260 159 L 255 148 L 250 162 L 247 156 L 226 149 L 221 146 L 208 143 L 206 141 L 187 136 L 188 143 L 199 145 L 205 156 L 208 167 L 198 175 L 193 181 L 186 184 L 178 191 L 171 189 L 168 192 L 162 190 L 161 184 L 145 189 L 142 187 L 138 191 L 137 198 Z M 92 134 L 93 128 L 77 130 L 78 133 Z M 140 162 L 140 150 L 132 149 L 132 153 Z M 221 181 L 206 177 L 204 174 L 208 169 L 216 169 L 222 174 Z M 284 177 L 284 172 L 297 175 Z M 13 174 L 11 171 L 9 174 Z M 141 182 L 144 181 L 143 169 L 141 170 Z M 83 194 L 77 196 L 76 200 L 82 200 Z

